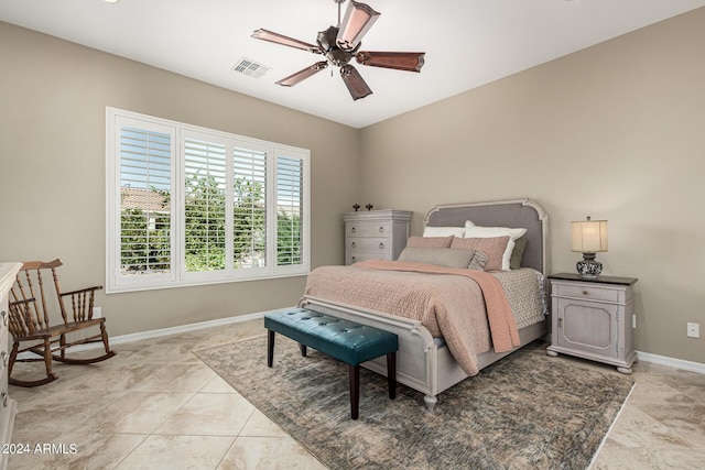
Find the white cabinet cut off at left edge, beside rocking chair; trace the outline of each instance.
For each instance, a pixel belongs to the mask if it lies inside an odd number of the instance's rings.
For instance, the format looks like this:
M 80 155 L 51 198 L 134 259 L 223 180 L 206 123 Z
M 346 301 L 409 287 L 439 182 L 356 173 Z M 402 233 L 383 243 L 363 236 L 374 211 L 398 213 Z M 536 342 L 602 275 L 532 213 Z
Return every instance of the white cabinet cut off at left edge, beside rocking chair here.
M 0 445 L 12 442 L 17 402 L 8 393 L 8 361 L 10 360 L 10 338 L 8 332 L 8 293 L 14 283 L 22 263 L 0 263 Z M 9 453 L 0 452 L 0 469 L 8 466 Z

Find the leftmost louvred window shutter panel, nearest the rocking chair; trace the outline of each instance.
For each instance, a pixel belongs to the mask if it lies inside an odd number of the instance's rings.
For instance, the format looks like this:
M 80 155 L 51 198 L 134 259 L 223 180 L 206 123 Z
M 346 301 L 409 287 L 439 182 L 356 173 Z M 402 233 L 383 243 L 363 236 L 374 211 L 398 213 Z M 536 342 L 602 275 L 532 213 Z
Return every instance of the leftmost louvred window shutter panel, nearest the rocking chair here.
M 120 127 L 120 253 L 122 275 L 170 273 L 172 136 Z

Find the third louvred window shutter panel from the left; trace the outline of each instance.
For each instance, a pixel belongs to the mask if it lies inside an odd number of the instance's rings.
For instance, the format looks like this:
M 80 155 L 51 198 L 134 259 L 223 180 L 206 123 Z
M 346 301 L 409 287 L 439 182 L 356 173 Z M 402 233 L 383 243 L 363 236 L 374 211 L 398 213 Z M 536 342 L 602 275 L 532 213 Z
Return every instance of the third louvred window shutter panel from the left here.
M 232 149 L 234 267 L 267 266 L 267 151 Z

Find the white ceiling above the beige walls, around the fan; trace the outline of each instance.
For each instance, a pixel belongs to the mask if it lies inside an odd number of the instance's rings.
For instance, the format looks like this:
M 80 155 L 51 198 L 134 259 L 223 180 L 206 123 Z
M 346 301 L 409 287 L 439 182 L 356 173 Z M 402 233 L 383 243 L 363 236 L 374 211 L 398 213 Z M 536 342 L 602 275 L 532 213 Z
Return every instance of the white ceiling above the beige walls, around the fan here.
M 381 17 L 361 50 L 420 51 L 426 62 L 421 74 L 351 62 L 373 91 L 358 101 L 335 67 L 291 88 L 274 85 L 321 56 L 250 37 L 264 28 L 315 44 L 318 31 L 337 23 L 334 0 L 0 0 L 0 21 L 362 128 L 705 6 L 705 0 L 366 2 Z M 238 74 L 232 67 L 241 57 L 271 70 L 261 78 Z

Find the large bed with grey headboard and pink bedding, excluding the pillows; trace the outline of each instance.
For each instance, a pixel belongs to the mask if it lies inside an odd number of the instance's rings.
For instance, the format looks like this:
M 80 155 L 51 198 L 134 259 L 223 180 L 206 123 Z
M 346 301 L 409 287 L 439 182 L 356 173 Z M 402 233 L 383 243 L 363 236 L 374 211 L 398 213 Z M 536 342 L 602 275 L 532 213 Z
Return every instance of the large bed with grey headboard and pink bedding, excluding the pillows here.
M 381 274 L 377 273 L 377 271 L 386 271 L 387 267 L 376 265 L 375 262 L 371 262 L 372 264 L 369 266 L 366 264 L 322 266 L 312 271 L 305 294 L 299 304 L 301 307 L 311 310 L 343 317 L 397 334 L 399 336 L 397 380 L 423 393 L 424 402 L 430 411 L 433 411 L 437 403 L 437 395 L 443 391 L 468 376 L 475 375 L 482 368 L 546 334 L 546 297 L 543 292 L 543 282 L 549 265 L 546 251 L 547 216 L 543 208 L 530 199 L 436 206 L 429 211 L 424 220 L 424 234 L 427 233 L 432 238 L 434 233 L 443 233 L 443 231 L 453 227 L 460 230 L 466 227 L 468 220 L 471 221 L 468 227 L 474 225 L 527 229 L 525 233 L 522 234 L 527 243 L 523 256 L 521 256 L 521 267 L 511 271 L 491 271 L 491 277 L 498 280 L 507 288 L 507 298 L 509 299 L 511 311 L 520 310 L 518 306 L 528 302 L 522 299 L 521 295 L 523 294 L 521 293 L 510 295 L 511 289 L 508 288 L 508 285 L 512 284 L 516 278 L 531 278 L 532 276 L 536 285 L 536 292 L 527 294 L 534 299 L 531 302 L 531 307 L 527 307 L 533 311 L 531 314 L 532 319 L 516 318 L 516 315 L 513 315 L 514 318 L 510 319 L 510 323 L 514 321 L 516 324 L 514 336 L 512 336 L 509 346 L 505 340 L 501 340 L 505 343 L 499 352 L 496 351 L 495 343 L 499 345 L 499 338 L 506 339 L 506 337 L 494 336 L 495 334 L 488 328 L 491 320 L 482 320 L 487 325 L 482 327 L 485 328 L 484 330 L 477 325 L 470 326 L 471 331 L 479 331 L 473 332 L 471 340 L 465 338 L 464 331 L 468 328 L 466 323 L 475 320 L 467 320 L 465 315 L 460 316 L 459 320 L 448 320 L 448 318 L 457 318 L 457 316 L 446 315 L 445 310 L 454 308 L 465 309 L 464 311 L 468 313 L 470 317 L 485 316 L 484 318 L 487 317 L 487 310 L 490 310 L 489 297 L 491 296 L 488 295 L 488 291 L 479 291 L 480 299 L 482 296 L 488 298 L 488 307 L 486 308 L 484 300 L 480 300 L 481 306 L 474 305 L 473 303 L 476 303 L 476 300 L 463 303 L 465 300 L 457 300 L 456 296 L 452 294 L 455 291 L 444 293 L 445 291 L 443 289 L 445 287 L 434 284 L 441 282 L 438 277 L 446 277 L 453 278 L 454 283 L 465 282 L 467 285 L 471 284 L 473 288 L 480 288 L 479 285 L 481 283 L 476 285 L 471 280 L 460 281 L 463 276 L 438 276 L 438 273 L 419 273 L 414 270 L 411 270 L 412 272 L 402 271 Z M 434 230 L 437 232 L 434 232 Z M 379 263 L 393 264 L 394 262 Z M 395 267 L 391 266 L 389 269 L 394 270 Z M 473 270 L 464 271 L 469 272 Z M 485 275 L 484 272 L 481 274 Z M 400 307 L 402 303 L 397 302 L 394 298 L 390 302 L 382 302 L 381 297 L 384 297 L 386 294 L 381 294 L 384 291 L 380 291 L 380 288 L 388 283 L 388 277 L 379 277 L 378 280 L 376 276 L 388 275 L 399 277 L 394 283 L 409 286 L 414 286 L 413 283 L 429 284 L 432 294 L 420 298 L 419 304 L 424 304 L 424 306 L 419 308 L 424 308 L 426 311 L 433 309 L 433 315 L 440 315 L 440 319 L 434 317 L 433 320 L 429 320 L 427 316 L 423 318 L 422 316 L 412 316 L 409 318 L 406 317 L 406 311 L 398 311 L 399 308 L 414 309 L 415 306 L 406 304 Z M 479 276 L 480 274 L 477 275 Z M 485 276 L 487 277 L 487 275 Z M 424 278 L 427 281 L 424 281 Z M 364 282 L 368 282 L 368 287 L 361 287 L 356 292 L 357 284 L 354 283 L 354 281 L 358 282 L 356 280 L 359 280 L 361 286 L 365 285 Z M 496 281 L 494 282 L 497 283 Z M 421 284 L 415 285 L 420 286 Z M 350 288 L 350 286 L 352 287 Z M 534 287 L 532 286 L 530 291 L 533 289 Z M 360 291 L 372 292 L 372 296 L 366 296 L 365 292 Z M 449 306 L 447 307 L 445 306 L 445 299 L 443 300 L 444 305 L 441 305 L 442 303 L 435 297 L 443 295 L 448 298 Z M 449 299 L 449 297 L 453 297 L 453 299 Z M 535 300 L 535 298 L 539 300 Z M 536 305 L 536 303 L 540 303 L 540 305 Z M 536 310 L 540 311 L 536 313 Z M 449 325 L 447 325 L 448 321 Z M 495 319 L 495 323 L 502 321 Z M 458 331 L 463 332 L 463 335 L 459 335 Z M 465 350 L 459 348 L 474 348 L 476 351 L 468 359 L 465 357 Z M 382 375 L 387 371 L 383 360 L 369 361 L 362 365 Z

